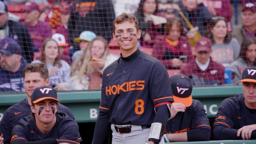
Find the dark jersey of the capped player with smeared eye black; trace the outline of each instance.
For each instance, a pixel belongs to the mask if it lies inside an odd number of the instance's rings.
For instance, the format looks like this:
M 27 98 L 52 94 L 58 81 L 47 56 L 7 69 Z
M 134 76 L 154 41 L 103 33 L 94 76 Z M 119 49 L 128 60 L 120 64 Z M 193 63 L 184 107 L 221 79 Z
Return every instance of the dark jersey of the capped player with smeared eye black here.
M 35 117 L 24 117 L 12 130 L 11 142 L 21 139 L 24 141 L 38 141 L 47 138 L 56 138 L 57 143 L 78 144 L 80 142 L 79 128 L 75 120 L 67 114 L 56 114 L 56 123 L 52 129 L 44 134 L 38 130 Z

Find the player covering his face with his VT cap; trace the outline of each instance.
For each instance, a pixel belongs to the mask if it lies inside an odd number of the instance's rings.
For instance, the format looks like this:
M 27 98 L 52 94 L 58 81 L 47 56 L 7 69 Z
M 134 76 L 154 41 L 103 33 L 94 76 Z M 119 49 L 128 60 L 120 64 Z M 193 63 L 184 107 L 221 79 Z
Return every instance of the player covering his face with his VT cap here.
M 210 122 L 199 100 L 192 99 L 191 80 L 177 74 L 170 77 L 174 102 L 171 106 L 172 118 L 166 125 L 165 142 L 209 141 Z

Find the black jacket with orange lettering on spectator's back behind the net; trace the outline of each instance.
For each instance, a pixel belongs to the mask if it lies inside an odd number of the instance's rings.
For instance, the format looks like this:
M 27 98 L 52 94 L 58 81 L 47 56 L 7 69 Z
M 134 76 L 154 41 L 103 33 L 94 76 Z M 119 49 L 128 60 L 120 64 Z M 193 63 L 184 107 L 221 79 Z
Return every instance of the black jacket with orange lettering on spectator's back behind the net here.
M 79 48 L 74 38 L 85 30 L 103 36 L 110 42 L 114 19 L 114 7 L 110 0 L 76 0 L 68 22 L 69 44 Z

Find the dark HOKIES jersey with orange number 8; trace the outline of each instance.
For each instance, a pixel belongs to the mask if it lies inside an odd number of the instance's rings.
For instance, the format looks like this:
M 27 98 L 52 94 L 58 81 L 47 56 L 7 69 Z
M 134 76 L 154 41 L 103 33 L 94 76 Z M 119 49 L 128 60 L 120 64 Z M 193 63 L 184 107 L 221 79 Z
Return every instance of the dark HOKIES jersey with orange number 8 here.
M 133 60 L 118 60 L 103 71 L 99 110 L 109 114 L 115 125 L 151 125 L 154 108 L 173 101 L 169 76 L 156 58 L 137 50 Z

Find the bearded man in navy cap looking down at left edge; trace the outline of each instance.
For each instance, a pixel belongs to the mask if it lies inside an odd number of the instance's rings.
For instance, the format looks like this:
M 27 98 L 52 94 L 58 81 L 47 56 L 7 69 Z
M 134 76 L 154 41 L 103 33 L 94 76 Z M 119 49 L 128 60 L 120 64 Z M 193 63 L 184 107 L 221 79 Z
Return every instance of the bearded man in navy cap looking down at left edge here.
M 22 48 L 13 41 L 0 46 L 0 91 L 25 91 L 23 68 L 27 61 L 22 52 Z

